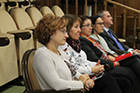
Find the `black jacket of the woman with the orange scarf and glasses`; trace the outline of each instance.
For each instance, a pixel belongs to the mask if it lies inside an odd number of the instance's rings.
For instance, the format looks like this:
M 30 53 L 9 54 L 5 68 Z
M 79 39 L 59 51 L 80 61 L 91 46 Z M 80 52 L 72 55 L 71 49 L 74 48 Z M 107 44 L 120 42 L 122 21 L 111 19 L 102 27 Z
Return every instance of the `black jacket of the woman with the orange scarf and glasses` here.
M 102 52 L 94 46 L 91 41 L 87 40 L 85 37 L 80 37 L 79 39 L 81 41 L 82 50 L 87 54 L 88 60 L 96 62 L 100 60 L 101 64 L 109 64 L 110 67 L 113 68 L 113 62 L 102 59 Z

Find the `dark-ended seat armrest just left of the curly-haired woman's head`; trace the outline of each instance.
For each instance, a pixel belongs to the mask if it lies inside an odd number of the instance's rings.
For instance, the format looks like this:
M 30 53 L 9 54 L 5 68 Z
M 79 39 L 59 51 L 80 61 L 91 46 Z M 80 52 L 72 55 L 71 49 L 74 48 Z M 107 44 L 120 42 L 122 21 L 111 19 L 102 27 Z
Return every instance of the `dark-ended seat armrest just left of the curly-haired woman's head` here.
M 31 38 L 31 33 L 29 31 L 15 30 L 7 33 L 14 34 L 16 38 L 21 38 L 22 40 Z

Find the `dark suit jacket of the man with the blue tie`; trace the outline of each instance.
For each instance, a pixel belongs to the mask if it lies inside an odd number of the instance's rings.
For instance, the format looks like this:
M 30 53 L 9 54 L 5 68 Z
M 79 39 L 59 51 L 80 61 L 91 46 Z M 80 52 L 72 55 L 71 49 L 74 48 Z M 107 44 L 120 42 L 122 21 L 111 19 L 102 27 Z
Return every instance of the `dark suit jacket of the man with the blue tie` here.
M 111 29 L 110 29 L 111 30 Z M 115 35 L 115 33 L 111 30 L 113 36 L 116 38 L 116 40 L 122 45 L 122 47 L 124 48 L 124 52 L 126 52 L 129 47 L 124 45 L 122 42 L 120 42 L 118 40 L 118 37 Z M 121 51 L 120 48 L 118 47 L 118 45 L 116 44 L 116 42 L 114 41 L 114 39 L 104 30 L 103 33 L 99 34 L 100 36 L 102 36 L 104 38 L 104 40 L 107 42 L 109 48 L 113 51 Z

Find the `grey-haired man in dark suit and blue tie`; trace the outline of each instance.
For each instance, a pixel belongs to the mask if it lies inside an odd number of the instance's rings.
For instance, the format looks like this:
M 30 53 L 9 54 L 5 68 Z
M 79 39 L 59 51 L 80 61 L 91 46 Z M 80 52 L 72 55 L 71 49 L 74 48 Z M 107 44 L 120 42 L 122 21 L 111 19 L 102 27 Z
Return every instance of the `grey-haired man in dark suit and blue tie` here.
M 100 11 L 98 12 L 98 15 L 102 17 L 102 20 L 104 21 L 104 32 L 100 33 L 100 36 L 102 36 L 105 41 L 107 42 L 109 48 L 113 51 L 116 51 L 117 53 L 121 52 L 131 52 L 133 54 L 140 54 L 140 50 L 138 49 L 132 49 L 128 46 L 124 45 L 122 42 L 118 40 L 118 37 L 115 35 L 115 33 L 110 29 L 110 27 L 113 25 L 113 18 L 109 11 Z

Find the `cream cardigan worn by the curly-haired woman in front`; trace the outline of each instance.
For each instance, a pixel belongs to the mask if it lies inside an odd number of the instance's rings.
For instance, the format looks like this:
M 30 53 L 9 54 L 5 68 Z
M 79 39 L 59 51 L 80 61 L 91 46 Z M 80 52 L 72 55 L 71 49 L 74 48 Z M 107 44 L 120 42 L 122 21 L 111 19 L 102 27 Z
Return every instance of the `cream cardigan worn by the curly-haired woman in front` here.
M 71 72 L 64 62 L 67 59 L 62 57 L 65 53 L 61 49 L 59 52 L 61 55 L 51 52 L 45 46 L 35 52 L 33 68 L 41 89 L 64 90 L 70 88 L 74 90 L 83 88 L 81 81 L 72 80 Z M 79 78 L 80 75 L 77 73 L 75 77 Z

